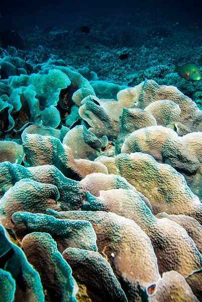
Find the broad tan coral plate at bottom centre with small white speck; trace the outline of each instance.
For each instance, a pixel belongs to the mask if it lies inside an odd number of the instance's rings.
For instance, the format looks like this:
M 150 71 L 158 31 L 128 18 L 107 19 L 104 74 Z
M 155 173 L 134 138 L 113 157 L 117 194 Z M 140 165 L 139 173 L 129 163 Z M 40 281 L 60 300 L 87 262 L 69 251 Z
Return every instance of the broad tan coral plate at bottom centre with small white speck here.
M 148 287 L 155 284 L 160 275 L 151 241 L 134 221 L 99 211 L 59 213 L 47 210 L 47 214 L 60 219 L 90 221 L 97 235 L 98 252 L 107 257 L 128 300 L 141 301 L 142 295 L 148 296 Z M 143 248 L 144 254 L 141 252 Z M 145 263 L 149 270 L 145 270 Z

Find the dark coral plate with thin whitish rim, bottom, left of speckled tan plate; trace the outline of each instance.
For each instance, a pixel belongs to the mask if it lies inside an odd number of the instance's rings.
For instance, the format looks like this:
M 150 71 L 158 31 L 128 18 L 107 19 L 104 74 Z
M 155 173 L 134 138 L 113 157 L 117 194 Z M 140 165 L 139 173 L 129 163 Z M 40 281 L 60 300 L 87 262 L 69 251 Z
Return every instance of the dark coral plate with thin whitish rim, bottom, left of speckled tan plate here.
M 78 282 L 84 283 L 92 300 L 127 301 L 109 262 L 99 253 L 68 248 L 63 258 L 70 264 Z M 89 292 L 88 291 L 88 292 Z

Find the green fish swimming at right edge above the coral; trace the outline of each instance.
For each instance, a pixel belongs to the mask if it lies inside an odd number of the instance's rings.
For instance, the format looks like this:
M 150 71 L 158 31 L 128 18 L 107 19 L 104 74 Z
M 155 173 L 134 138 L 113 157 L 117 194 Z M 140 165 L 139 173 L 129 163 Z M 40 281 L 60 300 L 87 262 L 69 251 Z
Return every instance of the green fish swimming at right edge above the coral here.
M 186 81 L 199 81 L 201 79 L 200 70 L 196 64 L 176 66 L 173 72 L 178 72 L 179 76 Z

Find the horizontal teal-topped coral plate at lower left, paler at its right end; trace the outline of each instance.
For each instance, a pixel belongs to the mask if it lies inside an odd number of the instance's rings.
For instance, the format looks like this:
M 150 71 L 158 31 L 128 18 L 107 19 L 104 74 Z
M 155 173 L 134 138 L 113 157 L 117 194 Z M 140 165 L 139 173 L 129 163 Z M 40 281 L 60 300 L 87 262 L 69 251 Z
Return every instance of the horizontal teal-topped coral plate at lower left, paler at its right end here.
M 97 251 L 96 235 L 90 224 L 85 220 L 59 220 L 44 214 L 15 212 L 12 221 L 16 237 L 23 237 L 32 232 L 45 232 L 57 243 L 62 253 L 68 247 Z

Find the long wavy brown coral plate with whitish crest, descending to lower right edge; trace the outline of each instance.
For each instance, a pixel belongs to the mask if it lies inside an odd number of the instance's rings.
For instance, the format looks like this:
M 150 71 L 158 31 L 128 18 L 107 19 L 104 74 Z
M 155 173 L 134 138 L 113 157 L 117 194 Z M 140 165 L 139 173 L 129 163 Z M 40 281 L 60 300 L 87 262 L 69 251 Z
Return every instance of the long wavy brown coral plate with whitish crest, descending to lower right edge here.
M 100 191 L 99 197 L 87 192 L 83 209 L 113 212 L 136 222 L 152 242 L 161 274 L 175 270 L 186 277 L 202 268 L 202 256 L 186 231 L 171 220 L 156 218 L 133 191 Z M 195 280 L 193 291 L 200 287 L 201 277 Z

